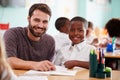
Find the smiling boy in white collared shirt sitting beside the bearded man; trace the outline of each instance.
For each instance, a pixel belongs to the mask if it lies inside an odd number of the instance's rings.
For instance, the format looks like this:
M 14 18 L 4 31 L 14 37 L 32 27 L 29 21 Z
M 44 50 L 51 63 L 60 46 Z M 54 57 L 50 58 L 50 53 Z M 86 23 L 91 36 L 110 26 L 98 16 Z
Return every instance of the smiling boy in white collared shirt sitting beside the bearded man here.
M 84 41 L 87 27 L 88 23 L 84 18 L 76 16 L 71 19 L 69 38 L 72 44 L 60 49 L 56 55 L 56 65 L 64 65 L 66 68 L 89 68 L 89 53 L 95 47 Z

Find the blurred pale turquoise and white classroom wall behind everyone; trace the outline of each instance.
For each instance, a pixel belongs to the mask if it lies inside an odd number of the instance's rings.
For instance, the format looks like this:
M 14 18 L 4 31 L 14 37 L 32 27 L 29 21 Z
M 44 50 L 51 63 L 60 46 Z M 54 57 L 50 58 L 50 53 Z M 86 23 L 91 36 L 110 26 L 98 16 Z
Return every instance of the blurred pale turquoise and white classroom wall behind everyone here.
M 51 0 L 52 1 L 52 0 Z M 69 1 L 69 3 L 68 3 Z M 76 15 L 93 21 L 95 26 L 104 27 L 105 23 L 113 18 L 120 17 L 120 0 L 110 0 L 111 3 L 99 4 L 96 1 L 104 0 L 55 0 L 52 2 L 52 17 L 48 33 L 57 33 L 54 23 L 60 16 L 72 18 Z M 109 0 L 106 0 L 109 1 Z M 10 23 L 11 27 L 27 26 L 28 9 L 17 6 L 0 6 L 0 23 Z

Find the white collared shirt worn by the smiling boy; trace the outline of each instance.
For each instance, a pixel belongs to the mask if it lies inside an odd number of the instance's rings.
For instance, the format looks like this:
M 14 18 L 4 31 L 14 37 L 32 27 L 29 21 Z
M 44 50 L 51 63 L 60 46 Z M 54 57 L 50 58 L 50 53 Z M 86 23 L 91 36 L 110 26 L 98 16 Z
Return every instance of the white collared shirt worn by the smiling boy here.
M 54 63 L 55 65 L 64 66 L 63 64 L 69 60 L 89 61 L 89 54 L 92 49 L 95 49 L 95 47 L 86 44 L 86 41 L 74 46 L 65 46 L 59 50 Z

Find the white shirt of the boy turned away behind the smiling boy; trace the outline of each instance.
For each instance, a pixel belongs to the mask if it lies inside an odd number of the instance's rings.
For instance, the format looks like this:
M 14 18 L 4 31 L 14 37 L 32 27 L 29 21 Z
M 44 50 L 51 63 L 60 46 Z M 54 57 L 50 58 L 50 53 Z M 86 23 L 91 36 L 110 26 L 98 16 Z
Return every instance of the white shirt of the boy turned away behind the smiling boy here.
M 68 34 L 59 32 L 57 35 L 53 36 L 55 39 L 55 50 L 56 52 L 62 47 L 71 43 Z

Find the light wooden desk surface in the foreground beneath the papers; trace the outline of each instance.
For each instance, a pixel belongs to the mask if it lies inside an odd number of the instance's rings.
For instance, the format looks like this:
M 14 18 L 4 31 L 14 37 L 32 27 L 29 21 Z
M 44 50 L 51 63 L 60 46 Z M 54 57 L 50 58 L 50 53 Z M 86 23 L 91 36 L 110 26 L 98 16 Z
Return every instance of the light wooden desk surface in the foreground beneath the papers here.
M 16 75 L 22 75 L 25 70 L 14 70 Z M 101 80 L 97 78 L 89 77 L 89 70 L 78 71 L 76 76 L 48 76 L 48 80 Z M 120 71 L 113 70 L 111 78 L 105 78 L 102 80 L 120 80 Z

